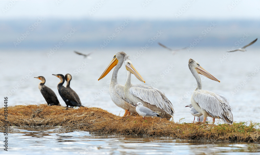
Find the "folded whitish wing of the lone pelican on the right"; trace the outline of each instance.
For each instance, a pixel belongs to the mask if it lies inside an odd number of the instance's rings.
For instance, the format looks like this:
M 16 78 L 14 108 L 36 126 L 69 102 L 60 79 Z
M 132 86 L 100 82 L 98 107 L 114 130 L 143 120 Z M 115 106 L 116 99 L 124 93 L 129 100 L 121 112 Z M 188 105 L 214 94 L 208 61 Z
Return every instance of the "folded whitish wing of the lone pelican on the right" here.
M 208 90 L 196 90 L 192 97 L 200 108 L 211 116 L 222 118 L 225 123 L 233 122 L 232 108 L 223 95 Z

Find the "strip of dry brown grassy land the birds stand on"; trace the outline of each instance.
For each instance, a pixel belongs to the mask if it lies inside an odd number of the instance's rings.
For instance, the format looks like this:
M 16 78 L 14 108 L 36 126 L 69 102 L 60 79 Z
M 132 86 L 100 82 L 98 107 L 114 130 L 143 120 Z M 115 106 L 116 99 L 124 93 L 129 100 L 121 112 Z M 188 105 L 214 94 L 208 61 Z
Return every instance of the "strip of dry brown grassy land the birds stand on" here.
M 259 123 L 193 124 L 158 117 L 146 118 L 144 121 L 138 115 L 122 118 L 101 108 L 62 109 L 65 108 L 46 104 L 8 107 L 8 126 L 62 126 L 64 131 L 81 130 L 94 134 L 146 135 L 213 142 L 260 142 Z M 0 129 L 3 132 L 4 116 L 0 115 L 0 119 Z M 8 132 L 12 132 L 11 129 Z

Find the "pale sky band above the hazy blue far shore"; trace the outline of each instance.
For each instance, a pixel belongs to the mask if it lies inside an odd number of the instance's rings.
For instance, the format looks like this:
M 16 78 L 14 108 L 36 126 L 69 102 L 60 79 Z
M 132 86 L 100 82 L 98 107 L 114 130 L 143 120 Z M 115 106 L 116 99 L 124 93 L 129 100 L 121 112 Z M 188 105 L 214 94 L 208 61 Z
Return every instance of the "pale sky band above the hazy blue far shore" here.
M 27 0 L 0 1 L 0 9 L 1 19 L 260 19 L 259 0 Z

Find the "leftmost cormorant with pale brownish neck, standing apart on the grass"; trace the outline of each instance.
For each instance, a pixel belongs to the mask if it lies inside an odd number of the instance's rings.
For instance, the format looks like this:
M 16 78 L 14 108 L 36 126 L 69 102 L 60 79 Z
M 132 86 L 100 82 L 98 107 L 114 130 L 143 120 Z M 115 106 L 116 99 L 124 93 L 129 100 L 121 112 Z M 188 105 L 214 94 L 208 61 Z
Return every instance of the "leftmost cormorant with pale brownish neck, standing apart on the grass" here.
M 49 87 L 45 86 L 45 78 L 43 76 L 34 77 L 40 79 L 42 82 L 39 83 L 38 88 L 40 89 L 42 96 L 46 100 L 48 105 L 60 105 L 60 102 L 54 93 Z

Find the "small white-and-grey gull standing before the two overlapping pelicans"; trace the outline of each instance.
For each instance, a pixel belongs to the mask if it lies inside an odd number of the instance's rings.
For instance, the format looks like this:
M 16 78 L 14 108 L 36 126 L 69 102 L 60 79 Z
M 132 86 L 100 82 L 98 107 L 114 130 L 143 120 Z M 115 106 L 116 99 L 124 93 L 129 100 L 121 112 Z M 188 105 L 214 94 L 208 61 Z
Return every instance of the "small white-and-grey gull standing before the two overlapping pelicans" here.
M 138 102 L 137 104 L 135 104 L 136 107 L 136 112 L 140 115 L 143 116 L 143 119 L 145 119 L 145 117 L 161 117 L 158 113 L 153 112 L 151 109 L 146 108 L 143 106 L 143 104 L 141 102 Z M 163 118 L 163 117 L 161 117 Z

